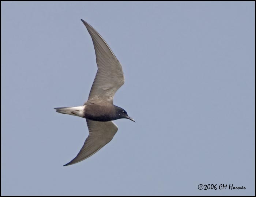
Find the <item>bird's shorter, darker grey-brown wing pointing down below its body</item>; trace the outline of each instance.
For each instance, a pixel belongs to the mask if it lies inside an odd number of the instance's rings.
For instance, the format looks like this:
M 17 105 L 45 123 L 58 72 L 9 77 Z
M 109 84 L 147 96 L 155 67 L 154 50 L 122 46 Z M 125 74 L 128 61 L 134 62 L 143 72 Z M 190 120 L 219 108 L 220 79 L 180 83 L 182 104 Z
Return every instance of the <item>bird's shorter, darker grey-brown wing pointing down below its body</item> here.
M 85 140 L 78 155 L 64 166 L 78 163 L 90 157 L 109 143 L 117 132 L 117 126 L 112 121 L 99 122 L 86 119 L 86 122 L 89 129 L 89 136 Z

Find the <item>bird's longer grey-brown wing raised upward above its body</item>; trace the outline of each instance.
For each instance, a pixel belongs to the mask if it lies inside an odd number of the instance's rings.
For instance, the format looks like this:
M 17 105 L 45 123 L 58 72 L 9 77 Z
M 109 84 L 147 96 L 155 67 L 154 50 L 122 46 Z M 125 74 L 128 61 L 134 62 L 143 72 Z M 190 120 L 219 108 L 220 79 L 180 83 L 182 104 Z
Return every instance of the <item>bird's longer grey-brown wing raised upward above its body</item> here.
M 86 21 L 82 22 L 93 39 L 98 65 L 87 103 L 113 104 L 114 94 L 124 84 L 122 66 L 101 35 Z

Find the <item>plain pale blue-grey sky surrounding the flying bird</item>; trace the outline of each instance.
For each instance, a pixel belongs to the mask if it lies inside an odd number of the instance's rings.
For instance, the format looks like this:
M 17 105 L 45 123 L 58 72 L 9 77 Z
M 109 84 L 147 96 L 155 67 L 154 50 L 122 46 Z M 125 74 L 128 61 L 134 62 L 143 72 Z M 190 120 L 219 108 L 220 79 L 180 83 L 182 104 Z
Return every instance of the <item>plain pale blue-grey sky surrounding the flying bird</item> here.
M 97 71 L 80 19 L 136 123 L 63 167 L 88 129 L 53 108 L 82 105 Z M 255 195 L 254 2 L 1 2 L 1 82 L 1 195 Z

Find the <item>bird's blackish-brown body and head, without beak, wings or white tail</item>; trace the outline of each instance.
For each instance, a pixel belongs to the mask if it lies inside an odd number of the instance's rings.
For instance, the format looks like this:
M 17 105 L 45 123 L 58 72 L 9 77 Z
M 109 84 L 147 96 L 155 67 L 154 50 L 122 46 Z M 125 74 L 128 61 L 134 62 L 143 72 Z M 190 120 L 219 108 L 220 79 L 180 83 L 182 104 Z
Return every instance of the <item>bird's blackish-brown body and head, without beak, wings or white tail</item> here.
M 89 104 L 84 107 L 84 118 L 92 121 L 106 122 L 127 118 L 127 113 L 124 109 L 115 105 Z

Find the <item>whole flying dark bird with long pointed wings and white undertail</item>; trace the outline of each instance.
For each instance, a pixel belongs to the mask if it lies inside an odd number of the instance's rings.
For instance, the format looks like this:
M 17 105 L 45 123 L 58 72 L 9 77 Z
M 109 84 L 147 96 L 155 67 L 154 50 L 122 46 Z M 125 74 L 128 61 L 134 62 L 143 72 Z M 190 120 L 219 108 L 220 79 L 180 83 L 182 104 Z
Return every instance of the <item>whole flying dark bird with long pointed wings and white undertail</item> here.
M 90 157 L 109 143 L 117 132 L 113 120 L 127 118 L 135 122 L 124 109 L 113 105 L 114 94 L 124 84 L 120 62 L 101 35 L 86 21 L 82 20 L 82 22 L 93 40 L 98 71 L 88 101 L 84 105 L 54 108 L 56 112 L 62 114 L 85 118 L 89 129 L 89 136 L 78 155 L 64 166 Z

